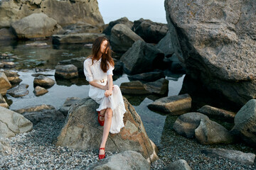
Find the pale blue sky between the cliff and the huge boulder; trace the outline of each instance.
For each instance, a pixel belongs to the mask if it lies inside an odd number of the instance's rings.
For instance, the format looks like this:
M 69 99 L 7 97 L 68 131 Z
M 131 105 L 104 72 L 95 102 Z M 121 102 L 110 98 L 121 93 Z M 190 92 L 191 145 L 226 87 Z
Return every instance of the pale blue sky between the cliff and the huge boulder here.
M 139 18 L 167 23 L 164 0 L 97 0 L 105 23 L 126 16 L 130 21 Z

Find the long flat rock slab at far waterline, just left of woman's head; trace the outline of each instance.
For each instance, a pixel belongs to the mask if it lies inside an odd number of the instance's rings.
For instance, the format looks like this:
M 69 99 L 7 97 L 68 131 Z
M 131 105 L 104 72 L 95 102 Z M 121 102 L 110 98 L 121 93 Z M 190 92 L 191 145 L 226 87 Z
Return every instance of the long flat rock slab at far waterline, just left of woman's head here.
M 75 33 L 67 35 L 53 35 L 53 44 L 76 44 L 76 43 L 90 43 L 94 42 L 96 38 L 102 37 L 104 34 L 100 33 Z

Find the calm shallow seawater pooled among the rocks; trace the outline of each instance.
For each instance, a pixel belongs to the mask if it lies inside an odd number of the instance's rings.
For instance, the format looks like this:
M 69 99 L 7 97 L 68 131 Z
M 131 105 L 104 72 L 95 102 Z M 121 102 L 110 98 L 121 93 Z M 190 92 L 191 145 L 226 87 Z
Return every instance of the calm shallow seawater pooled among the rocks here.
M 68 97 L 85 98 L 88 96 L 89 85 L 85 78 L 73 80 L 55 80 L 55 65 L 61 60 L 69 60 L 75 57 L 87 57 L 90 55 L 90 48 L 84 45 L 51 45 L 50 40 L 45 40 L 47 47 L 28 47 L 26 44 L 33 41 L 0 43 L 0 53 L 16 55 L 17 59 L 9 61 L 15 62 L 16 69 L 10 69 L 18 72 L 23 80 L 21 84 L 28 84 L 29 94 L 23 97 L 14 98 L 6 94 L 7 102 L 11 110 L 48 104 L 56 109 L 60 108 Z M 38 72 L 39 70 L 43 70 Z M 32 74 L 42 73 L 50 74 L 48 76 L 54 79 L 56 84 L 48 89 L 48 93 L 43 96 L 33 94 Z M 184 75 L 169 74 L 166 79 L 169 80 L 168 96 L 178 95 L 181 90 Z M 129 81 L 127 74 L 117 77 L 114 84 L 120 86 L 122 82 Z M 137 113 L 141 116 L 145 130 L 149 138 L 157 145 L 161 145 L 161 135 L 164 129 L 166 115 L 161 115 L 150 111 L 147 105 L 160 96 L 128 96 L 124 95 L 132 103 Z

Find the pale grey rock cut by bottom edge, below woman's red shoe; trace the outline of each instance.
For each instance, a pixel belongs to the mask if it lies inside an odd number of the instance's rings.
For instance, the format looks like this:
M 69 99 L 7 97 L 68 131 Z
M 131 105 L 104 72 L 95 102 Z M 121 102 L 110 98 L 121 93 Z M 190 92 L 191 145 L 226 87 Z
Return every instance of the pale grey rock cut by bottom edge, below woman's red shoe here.
M 136 167 L 136 168 L 135 168 Z M 142 154 L 134 151 L 124 151 L 119 154 L 114 154 L 107 159 L 103 159 L 96 164 L 89 167 L 92 170 L 104 170 L 104 169 L 141 169 L 149 170 L 150 164 L 146 162 L 146 159 L 142 157 Z

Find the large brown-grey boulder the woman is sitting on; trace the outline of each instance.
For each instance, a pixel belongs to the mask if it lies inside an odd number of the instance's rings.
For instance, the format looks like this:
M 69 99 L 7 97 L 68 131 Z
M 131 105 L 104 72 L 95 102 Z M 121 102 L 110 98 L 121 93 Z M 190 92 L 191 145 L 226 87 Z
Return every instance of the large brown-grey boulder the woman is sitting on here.
M 109 135 L 107 151 L 132 150 L 142 154 L 148 162 L 154 162 L 157 155 L 146 135 L 141 118 L 126 98 L 124 98 L 124 105 L 127 111 L 124 113 L 124 128 L 117 134 Z M 84 98 L 72 105 L 56 145 L 73 149 L 98 150 L 103 132 L 103 127 L 97 123 L 96 108 L 98 106 L 91 98 Z

